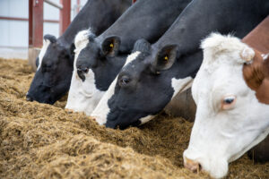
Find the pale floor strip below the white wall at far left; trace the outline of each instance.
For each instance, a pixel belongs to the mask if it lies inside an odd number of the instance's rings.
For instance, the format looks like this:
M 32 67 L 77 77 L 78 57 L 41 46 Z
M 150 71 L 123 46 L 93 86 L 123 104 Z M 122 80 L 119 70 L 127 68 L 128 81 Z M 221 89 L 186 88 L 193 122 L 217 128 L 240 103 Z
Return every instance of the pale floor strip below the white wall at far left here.
M 0 57 L 28 59 L 28 47 L 0 47 Z

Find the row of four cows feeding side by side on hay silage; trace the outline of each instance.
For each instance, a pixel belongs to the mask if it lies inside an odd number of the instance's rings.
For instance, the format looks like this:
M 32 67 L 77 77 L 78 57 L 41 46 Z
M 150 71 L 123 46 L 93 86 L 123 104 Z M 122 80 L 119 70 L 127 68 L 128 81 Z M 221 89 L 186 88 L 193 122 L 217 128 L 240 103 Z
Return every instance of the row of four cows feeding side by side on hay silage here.
M 268 14 L 268 0 L 89 0 L 60 38 L 44 36 L 26 98 L 69 90 L 65 108 L 124 129 L 192 86 L 185 166 L 223 177 L 269 133 Z

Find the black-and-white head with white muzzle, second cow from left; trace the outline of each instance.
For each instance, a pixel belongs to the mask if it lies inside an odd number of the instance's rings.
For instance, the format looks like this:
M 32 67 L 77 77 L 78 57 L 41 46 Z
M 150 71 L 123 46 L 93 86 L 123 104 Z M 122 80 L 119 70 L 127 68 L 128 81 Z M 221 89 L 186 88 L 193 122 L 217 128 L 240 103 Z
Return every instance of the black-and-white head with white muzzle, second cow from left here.
M 119 45 L 117 37 L 100 42 L 91 30 L 77 34 L 74 73 L 65 108 L 91 114 L 125 63 L 126 55 L 118 54 Z

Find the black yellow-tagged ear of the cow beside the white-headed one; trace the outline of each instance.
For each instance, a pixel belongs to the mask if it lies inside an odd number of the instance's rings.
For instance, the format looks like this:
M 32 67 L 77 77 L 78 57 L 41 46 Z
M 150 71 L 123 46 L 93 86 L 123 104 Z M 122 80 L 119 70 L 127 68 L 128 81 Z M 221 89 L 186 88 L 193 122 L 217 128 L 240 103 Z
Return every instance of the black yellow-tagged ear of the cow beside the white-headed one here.
M 169 69 L 175 62 L 178 53 L 177 45 L 169 45 L 162 47 L 158 52 L 155 61 L 152 66 L 157 71 L 160 72 L 162 70 Z

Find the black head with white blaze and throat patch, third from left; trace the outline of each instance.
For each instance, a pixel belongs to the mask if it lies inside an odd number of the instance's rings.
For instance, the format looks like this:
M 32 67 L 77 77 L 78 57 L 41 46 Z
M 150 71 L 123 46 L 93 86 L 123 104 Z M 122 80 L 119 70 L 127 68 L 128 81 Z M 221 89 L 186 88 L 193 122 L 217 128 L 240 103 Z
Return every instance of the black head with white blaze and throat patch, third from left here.
M 190 76 L 179 78 L 176 75 L 182 69 L 178 69 L 177 54 L 177 45 L 157 49 L 143 39 L 138 40 L 91 116 L 99 124 L 120 129 L 151 120 L 178 91 L 186 90 L 191 84 Z M 187 65 L 190 61 L 186 58 L 181 63 Z M 191 69 L 187 66 L 185 72 Z

